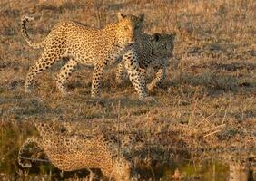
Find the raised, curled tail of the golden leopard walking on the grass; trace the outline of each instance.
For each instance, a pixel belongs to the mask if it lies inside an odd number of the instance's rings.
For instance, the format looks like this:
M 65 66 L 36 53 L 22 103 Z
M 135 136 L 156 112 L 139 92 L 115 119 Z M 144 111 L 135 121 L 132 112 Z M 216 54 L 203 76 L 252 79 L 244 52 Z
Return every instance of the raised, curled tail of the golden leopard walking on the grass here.
M 43 48 L 43 47 L 44 47 L 44 41 L 41 42 L 41 43 L 34 43 L 34 42 L 32 42 L 32 40 L 30 39 L 29 35 L 27 34 L 25 24 L 26 24 L 27 22 L 32 22 L 32 21 L 34 21 L 34 17 L 25 16 L 25 17 L 22 19 L 22 22 L 21 22 L 21 32 L 22 32 L 22 35 L 23 35 L 23 37 L 25 38 L 25 41 L 26 41 L 30 46 L 32 46 L 34 49 Z

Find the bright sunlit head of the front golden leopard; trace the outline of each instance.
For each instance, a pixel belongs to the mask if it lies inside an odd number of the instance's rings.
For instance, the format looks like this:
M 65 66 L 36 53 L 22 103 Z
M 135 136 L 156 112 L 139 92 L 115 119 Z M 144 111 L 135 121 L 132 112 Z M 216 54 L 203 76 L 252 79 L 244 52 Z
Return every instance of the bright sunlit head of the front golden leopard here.
M 139 16 L 117 14 L 119 22 L 116 28 L 116 43 L 119 46 L 132 46 L 135 36 L 143 27 L 144 14 Z

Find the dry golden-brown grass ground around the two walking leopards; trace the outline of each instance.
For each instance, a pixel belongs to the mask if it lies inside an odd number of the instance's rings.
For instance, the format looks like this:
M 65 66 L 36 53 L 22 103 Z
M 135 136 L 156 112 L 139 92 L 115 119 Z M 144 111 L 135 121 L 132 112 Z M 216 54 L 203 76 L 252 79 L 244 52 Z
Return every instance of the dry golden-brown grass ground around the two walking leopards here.
M 0 7 L 0 174 L 3 167 L 17 169 L 12 157 L 27 135 L 34 134 L 24 120 L 33 122 L 35 117 L 113 127 L 127 134 L 143 132 L 143 143 L 158 151 L 247 148 L 255 157 L 255 1 L 29 0 L 2 1 Z M 61 63 L 38 76 L 33 95 L 25 94 L 25 74 L 41 53 L 21 36 L 25 14 L 37 17 L 28 31 L 34 41 L 41 41 L 59 21 L 103 27 L 115 21 L 118 11 L 143 12 L 145 32 L 177 33 L 168 80 L 152 92 L 156 102 L 137 100 L 129 81 L 116 86 L 113 69 L 104 76 L 103 99 L 91 99 L 92 70 L 83 66 L 68 85 L 73 95 L 62 98 L 54 82 Z

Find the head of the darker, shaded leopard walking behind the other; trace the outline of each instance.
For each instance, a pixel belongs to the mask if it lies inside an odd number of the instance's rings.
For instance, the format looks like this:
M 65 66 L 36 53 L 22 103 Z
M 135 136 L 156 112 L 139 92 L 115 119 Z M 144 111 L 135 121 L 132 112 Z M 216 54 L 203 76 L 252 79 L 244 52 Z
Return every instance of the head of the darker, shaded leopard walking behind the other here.
M 171 58 L 173 56 L 174 40 L 176 34 L 154 33 L 153 54 Z

